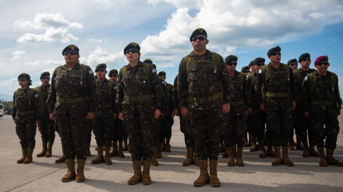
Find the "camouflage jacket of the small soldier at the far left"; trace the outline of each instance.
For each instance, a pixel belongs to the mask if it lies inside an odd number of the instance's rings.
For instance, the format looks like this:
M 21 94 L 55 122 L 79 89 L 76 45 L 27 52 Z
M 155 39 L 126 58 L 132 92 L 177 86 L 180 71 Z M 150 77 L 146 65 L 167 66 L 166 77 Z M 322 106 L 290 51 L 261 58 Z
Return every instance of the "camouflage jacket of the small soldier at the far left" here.
M 12 118 L 19 122 L 27 122 L 32 120 L 40 120 L 40 106 L 37 90 L 33 90 L 32 97 L 29 98 L 28 91 L 31 88 L 27 87 L 24 90 L 18 89 L 13 94 L 13 111 Z

